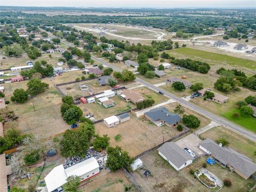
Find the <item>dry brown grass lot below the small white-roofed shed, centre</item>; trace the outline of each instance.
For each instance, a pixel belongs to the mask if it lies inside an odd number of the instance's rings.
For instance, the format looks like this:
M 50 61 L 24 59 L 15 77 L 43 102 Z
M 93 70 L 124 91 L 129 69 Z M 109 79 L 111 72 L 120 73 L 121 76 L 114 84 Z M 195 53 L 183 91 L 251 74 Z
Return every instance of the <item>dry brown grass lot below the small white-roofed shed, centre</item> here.
M 179 132 L 174 127 L 158 127 L 147 119 L 137 118 L 130 114 L 131 119 L 116 127 L 108 128 L 104 123 L 95 124 L 95 132 L 99 135 L 108 134 L 110 146 L 121 146 L 131 156 L 136 156 L 143 151 L 157 146 Z M 120 134 L 121 140 L 115 141 L 114 137 Z

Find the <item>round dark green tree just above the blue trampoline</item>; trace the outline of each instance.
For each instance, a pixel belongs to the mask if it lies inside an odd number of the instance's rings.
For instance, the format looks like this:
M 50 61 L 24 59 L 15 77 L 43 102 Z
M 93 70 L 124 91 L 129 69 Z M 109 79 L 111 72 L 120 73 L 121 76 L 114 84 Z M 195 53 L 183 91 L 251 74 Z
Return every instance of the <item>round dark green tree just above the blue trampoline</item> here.
M 65 111 L 65 113 L 63 114 L 63 119 L 69 123 L 69 124 L 73 124 L 74 122 L 78 121 L 79 118 L 83 115 L 83 111 L 75 106 L 72 105 L 69 109 L 67 109 Z

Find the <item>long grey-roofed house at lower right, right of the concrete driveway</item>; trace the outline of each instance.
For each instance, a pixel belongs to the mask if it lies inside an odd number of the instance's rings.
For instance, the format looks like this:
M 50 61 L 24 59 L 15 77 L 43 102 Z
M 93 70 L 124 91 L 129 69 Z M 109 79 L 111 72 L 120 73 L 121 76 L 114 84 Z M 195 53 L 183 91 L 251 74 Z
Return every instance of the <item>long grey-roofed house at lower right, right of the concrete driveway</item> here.
M 256 164 L 252 159 L 234 149 L 222 147 L 221 144 L 218 145 L 209 138 L 199 143 L 199 148 L 213 157 L 221 166 L 229 167 L 244 179 L 248 179 L 256 172 Z

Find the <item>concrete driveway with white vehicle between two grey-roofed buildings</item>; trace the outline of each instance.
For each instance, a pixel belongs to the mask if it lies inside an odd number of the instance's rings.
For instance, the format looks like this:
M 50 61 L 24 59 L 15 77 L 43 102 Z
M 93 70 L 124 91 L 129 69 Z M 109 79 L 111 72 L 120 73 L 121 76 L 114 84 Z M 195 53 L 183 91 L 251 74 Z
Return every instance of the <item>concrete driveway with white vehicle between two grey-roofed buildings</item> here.
M 182 149 L 187 147 L 188 149 L 194 152 L 196 157 L 198 157 L 204 155 L 204 152 L 198 147 L 201 141 L 202 140 L 196 137 L 196 135 L 189 134 L 186 137 L 183 137 L 180 140 L 176 141 L 175 143 Z

